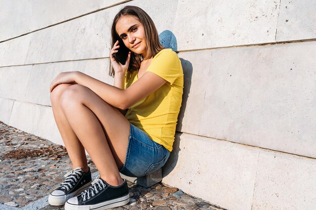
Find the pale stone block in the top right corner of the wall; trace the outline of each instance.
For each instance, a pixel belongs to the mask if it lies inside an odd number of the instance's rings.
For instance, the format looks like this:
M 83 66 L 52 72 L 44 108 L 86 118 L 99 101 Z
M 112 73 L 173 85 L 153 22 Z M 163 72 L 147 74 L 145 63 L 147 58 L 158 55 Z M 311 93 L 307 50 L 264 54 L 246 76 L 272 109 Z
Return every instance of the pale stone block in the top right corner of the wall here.
M 315 1 L 281 1 L 276 41 L 316 38 L 315 8 Z

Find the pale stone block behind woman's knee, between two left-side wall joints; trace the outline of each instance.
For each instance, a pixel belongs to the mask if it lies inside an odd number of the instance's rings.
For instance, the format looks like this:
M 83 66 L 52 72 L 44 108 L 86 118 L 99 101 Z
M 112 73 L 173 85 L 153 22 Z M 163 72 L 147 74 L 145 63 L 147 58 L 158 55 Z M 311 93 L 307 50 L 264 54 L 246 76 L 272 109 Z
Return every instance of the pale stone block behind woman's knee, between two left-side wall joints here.
M 0 97 L 51 106 L 49 86 L 61 72 L 79 71 L 113 85 L 109 59 L 79 60 L 0 68 Z

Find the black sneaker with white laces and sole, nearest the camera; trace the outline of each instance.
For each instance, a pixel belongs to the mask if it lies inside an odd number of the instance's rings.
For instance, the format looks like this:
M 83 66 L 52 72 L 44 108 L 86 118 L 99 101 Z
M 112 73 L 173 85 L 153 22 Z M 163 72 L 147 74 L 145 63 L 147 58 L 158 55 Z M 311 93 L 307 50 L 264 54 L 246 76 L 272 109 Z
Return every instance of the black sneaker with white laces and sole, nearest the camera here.
M 129 191 L 125 179 L 123 184 L 115 187 L 96 177 L 88 189 L 80 195 L 67 200 L 65 210 L 104 210 L 122 206 L 128 202 Z

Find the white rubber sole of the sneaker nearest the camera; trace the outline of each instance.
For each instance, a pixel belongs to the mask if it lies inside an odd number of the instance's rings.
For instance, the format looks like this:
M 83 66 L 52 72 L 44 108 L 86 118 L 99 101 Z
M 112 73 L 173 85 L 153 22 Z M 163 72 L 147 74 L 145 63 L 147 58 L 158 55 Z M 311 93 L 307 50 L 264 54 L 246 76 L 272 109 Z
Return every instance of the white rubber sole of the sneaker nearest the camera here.
M 126 205 L 129 202 L 129 194 L 112 200 L 100 202 L 94 205 L 75 205 L 69 202 L 65 203 L 65 210 L 106 210 Z

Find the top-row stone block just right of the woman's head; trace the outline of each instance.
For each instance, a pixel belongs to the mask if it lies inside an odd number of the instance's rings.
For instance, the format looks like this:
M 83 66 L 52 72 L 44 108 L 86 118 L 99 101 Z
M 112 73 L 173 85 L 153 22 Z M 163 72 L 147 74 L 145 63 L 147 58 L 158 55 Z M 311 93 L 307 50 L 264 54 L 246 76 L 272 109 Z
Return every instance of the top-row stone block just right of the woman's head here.
M 173 33 L 178 50 L 274 42 L 280 2 L 179 1 Z M 185 24 L 183 24 L 185 23 Z

